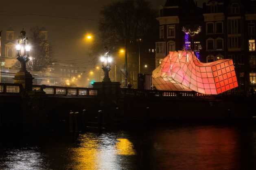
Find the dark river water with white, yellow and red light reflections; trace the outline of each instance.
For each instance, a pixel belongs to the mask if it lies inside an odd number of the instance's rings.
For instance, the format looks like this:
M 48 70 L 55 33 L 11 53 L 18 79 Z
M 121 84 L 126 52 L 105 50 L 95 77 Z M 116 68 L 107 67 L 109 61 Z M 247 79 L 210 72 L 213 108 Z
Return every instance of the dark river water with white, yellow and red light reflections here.
M 2 170 L 256 169 L 256 123 L 165 123 L 102 134 L 23 136 L 4 144 Z

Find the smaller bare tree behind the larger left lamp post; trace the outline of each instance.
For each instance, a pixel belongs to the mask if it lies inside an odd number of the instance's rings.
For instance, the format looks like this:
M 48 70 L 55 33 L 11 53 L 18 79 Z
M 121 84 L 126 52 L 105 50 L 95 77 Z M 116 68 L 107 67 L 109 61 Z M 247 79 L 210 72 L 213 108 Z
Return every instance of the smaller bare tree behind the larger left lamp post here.
M 40 32 L 38 26 L 31 27 L 29 34 L 28 40 L 31 45 L 29 56 L 31 58 L 28 62 L 28 70 L 46 71 L 56 62 L 53 55 L 53 47 L 48 43 L 44 34 Z

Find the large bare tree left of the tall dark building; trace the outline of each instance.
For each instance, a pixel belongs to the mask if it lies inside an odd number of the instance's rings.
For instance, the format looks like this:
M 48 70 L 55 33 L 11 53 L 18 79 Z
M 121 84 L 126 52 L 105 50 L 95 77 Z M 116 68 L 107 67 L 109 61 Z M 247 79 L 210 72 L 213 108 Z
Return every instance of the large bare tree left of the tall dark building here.
M 147 43 L 154 44 L 158 22 L 155 19 L 157 12 L 151 8 L 150 2 L 120 0 L 104 6 L 101 15 L 98 23 L 99 38 L 92 47 L 91 56 L 98 57 L 105 45 L 117 51 L 125 46 L 125 41 L 129 51 L 138 50 L 138 43 L 141 47 Z M 143 41 L 139 42 L 139 39 Z

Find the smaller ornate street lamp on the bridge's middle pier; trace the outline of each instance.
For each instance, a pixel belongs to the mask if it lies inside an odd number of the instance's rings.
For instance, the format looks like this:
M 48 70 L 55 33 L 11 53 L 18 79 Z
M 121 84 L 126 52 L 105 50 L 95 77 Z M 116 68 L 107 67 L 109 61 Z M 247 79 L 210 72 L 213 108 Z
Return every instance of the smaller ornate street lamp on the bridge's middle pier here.
M 109 71 L 110 71 L 110 63 L 112 62 L 112 58 L 109 56 L 108 47 L 104 47 L 105 54 L 101 57 L 102 62 L 102 70 L 104 71 L 104 78 L 103 81 L 111 81 L 109 79 Z

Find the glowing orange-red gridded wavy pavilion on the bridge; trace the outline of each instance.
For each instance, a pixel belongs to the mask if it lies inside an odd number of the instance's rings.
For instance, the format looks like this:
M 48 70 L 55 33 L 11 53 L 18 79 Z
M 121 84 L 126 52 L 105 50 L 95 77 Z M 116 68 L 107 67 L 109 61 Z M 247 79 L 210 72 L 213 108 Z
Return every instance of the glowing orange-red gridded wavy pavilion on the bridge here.
M 152 83 L 158 90 L 202 94 L 220 94 L 238 87 L 232 59 L 201 63 L 193 51 L 170 51 L 153 70 Z

